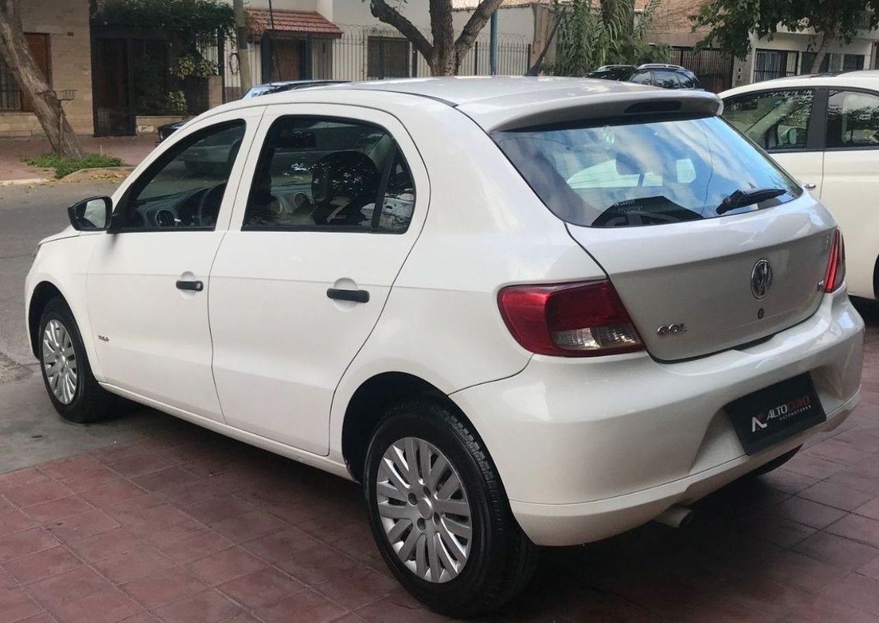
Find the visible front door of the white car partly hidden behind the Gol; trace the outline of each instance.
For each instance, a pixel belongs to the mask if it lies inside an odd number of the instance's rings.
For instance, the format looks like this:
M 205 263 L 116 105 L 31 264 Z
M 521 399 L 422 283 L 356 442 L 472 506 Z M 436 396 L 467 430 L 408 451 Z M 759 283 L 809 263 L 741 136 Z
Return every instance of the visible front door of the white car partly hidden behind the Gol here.
M 821 196 L 823 89 L 754 91 L 723 100 L 723 118 Z

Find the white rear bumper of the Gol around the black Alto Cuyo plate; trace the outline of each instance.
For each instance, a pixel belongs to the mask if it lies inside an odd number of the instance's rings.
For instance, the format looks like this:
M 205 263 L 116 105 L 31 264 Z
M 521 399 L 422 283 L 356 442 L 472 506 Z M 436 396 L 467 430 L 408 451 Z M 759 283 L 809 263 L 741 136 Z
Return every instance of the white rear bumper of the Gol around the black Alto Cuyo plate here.
M 859 399 L 862 350 L 863 322 L 842 289 L 751 348 L 673 364 L 643 353 L 535 356 L 521 373 L 452 398 L 483 437 L 528 536 L 572 545 L 692 503 L 841 423 Z M 828 421 L 745 454 L 724 405 L 807 372 Z

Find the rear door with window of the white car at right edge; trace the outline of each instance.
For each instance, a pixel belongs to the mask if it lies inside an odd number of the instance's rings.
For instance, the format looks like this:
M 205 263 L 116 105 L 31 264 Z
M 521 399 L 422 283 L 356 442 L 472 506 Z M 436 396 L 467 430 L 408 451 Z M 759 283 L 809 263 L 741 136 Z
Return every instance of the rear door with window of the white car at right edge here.
M 846 236 L 848 289 L 875 298 L 879 257 L 879 92 L 832 90 L 821 200 Z

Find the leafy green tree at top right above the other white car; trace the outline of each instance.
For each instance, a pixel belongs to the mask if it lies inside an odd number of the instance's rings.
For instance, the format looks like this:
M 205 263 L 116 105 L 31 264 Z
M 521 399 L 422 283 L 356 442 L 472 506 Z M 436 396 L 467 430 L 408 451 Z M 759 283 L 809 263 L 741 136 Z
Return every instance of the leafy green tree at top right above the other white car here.
M 815 73 L 833 40 L 850 43 L 859 30 L 879 24 L 879 0 L 708 0 L 690 20 L 694 28 L 710 29 L 701 47 L 714 44 L 740 59 L 748 55 L 751 34 L 772 40 L 779 29 L 811 30 L 818 40 L 810 68 Z

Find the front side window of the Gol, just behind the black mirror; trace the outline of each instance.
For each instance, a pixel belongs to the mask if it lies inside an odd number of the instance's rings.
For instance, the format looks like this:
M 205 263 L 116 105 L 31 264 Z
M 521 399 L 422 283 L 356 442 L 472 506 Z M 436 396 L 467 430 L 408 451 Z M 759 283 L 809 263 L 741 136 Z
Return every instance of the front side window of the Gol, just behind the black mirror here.
M 179 141 L 131 185 L 114 229 L 213 229 L 243 137 L 236 120 Z

